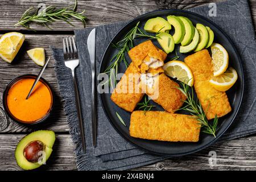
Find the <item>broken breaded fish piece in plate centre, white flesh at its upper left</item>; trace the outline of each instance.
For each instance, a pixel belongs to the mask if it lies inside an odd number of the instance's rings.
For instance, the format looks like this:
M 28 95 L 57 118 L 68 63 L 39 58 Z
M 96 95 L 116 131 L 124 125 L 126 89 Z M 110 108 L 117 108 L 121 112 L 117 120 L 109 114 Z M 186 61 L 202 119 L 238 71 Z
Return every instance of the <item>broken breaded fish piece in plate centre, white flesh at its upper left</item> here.
M 150 73 L 143 73 L 141 76 L 142 92 L 170 113 L 179 109 L 183 105 L 183 101 L 186 100 L 185 95 L 176 89 L 177 87 L 179 84 L 172 81 L 164 73 L 151 76 Z

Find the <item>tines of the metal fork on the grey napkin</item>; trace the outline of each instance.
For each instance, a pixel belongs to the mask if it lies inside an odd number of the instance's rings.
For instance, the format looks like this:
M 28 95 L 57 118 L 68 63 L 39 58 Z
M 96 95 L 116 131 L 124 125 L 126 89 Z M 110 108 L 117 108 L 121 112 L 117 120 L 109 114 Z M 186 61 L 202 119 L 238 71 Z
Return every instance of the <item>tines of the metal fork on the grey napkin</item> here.
M 74 37 L 75 36 L 63 37 L 63 53 L 65 60 L 78 59 Z

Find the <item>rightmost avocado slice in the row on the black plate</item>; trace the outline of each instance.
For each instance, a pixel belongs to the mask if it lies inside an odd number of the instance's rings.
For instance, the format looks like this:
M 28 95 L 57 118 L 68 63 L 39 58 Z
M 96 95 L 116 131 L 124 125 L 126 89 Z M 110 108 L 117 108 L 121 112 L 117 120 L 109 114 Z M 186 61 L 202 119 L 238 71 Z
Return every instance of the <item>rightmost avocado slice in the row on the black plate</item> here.
M 208 40 L 209 40 L 208 31 L 203 24 L 197 23 L 196 29 L 199 32 L 199 43 L 194 50 L 195 52 L 201 51 L 201 49 L 205 48 L 205 46 L 207 45 Z

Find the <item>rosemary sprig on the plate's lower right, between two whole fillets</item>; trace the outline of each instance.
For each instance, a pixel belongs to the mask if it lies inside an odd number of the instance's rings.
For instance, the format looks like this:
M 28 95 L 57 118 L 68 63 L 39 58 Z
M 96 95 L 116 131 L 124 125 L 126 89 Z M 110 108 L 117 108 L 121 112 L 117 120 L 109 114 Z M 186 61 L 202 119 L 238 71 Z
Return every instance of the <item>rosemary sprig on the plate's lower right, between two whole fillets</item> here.
M 190 94 L 189 86 L 184 82 L 181 82 L 181 84 L 183 88 L 177 88 L 177 89 L 179 89 L 187 97 L 187 100 L 184 101 L 187 105 L 185 105 L 183 108 L 179 110 L 189 111 L 189 113 L 191 113 L 197 119 L 197 121 L 201 123 L 201 127 L 203 127 L 204 129 L 203 132 L 212 134 L 216 138 L 215 133 L 216 133 L 216 128 L 218 124 L 217 115 L 213 120 L 213 124 L 210 125 L 200 102 L 198 100 L 195 101 L 193 98 L 193 89 L 192 89 L 192 93 Z

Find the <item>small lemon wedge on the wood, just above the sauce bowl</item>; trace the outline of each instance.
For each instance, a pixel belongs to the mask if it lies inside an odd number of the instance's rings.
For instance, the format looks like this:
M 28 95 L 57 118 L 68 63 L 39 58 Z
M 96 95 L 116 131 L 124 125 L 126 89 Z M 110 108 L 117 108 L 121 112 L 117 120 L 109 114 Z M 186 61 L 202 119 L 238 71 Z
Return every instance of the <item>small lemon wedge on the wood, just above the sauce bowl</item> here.
M 44 53 L 44 48 L 34 48 L 27 51 L 28 56 L 35 62 L 35 64 L 43 67 L 46 61 L 46 55 Z

